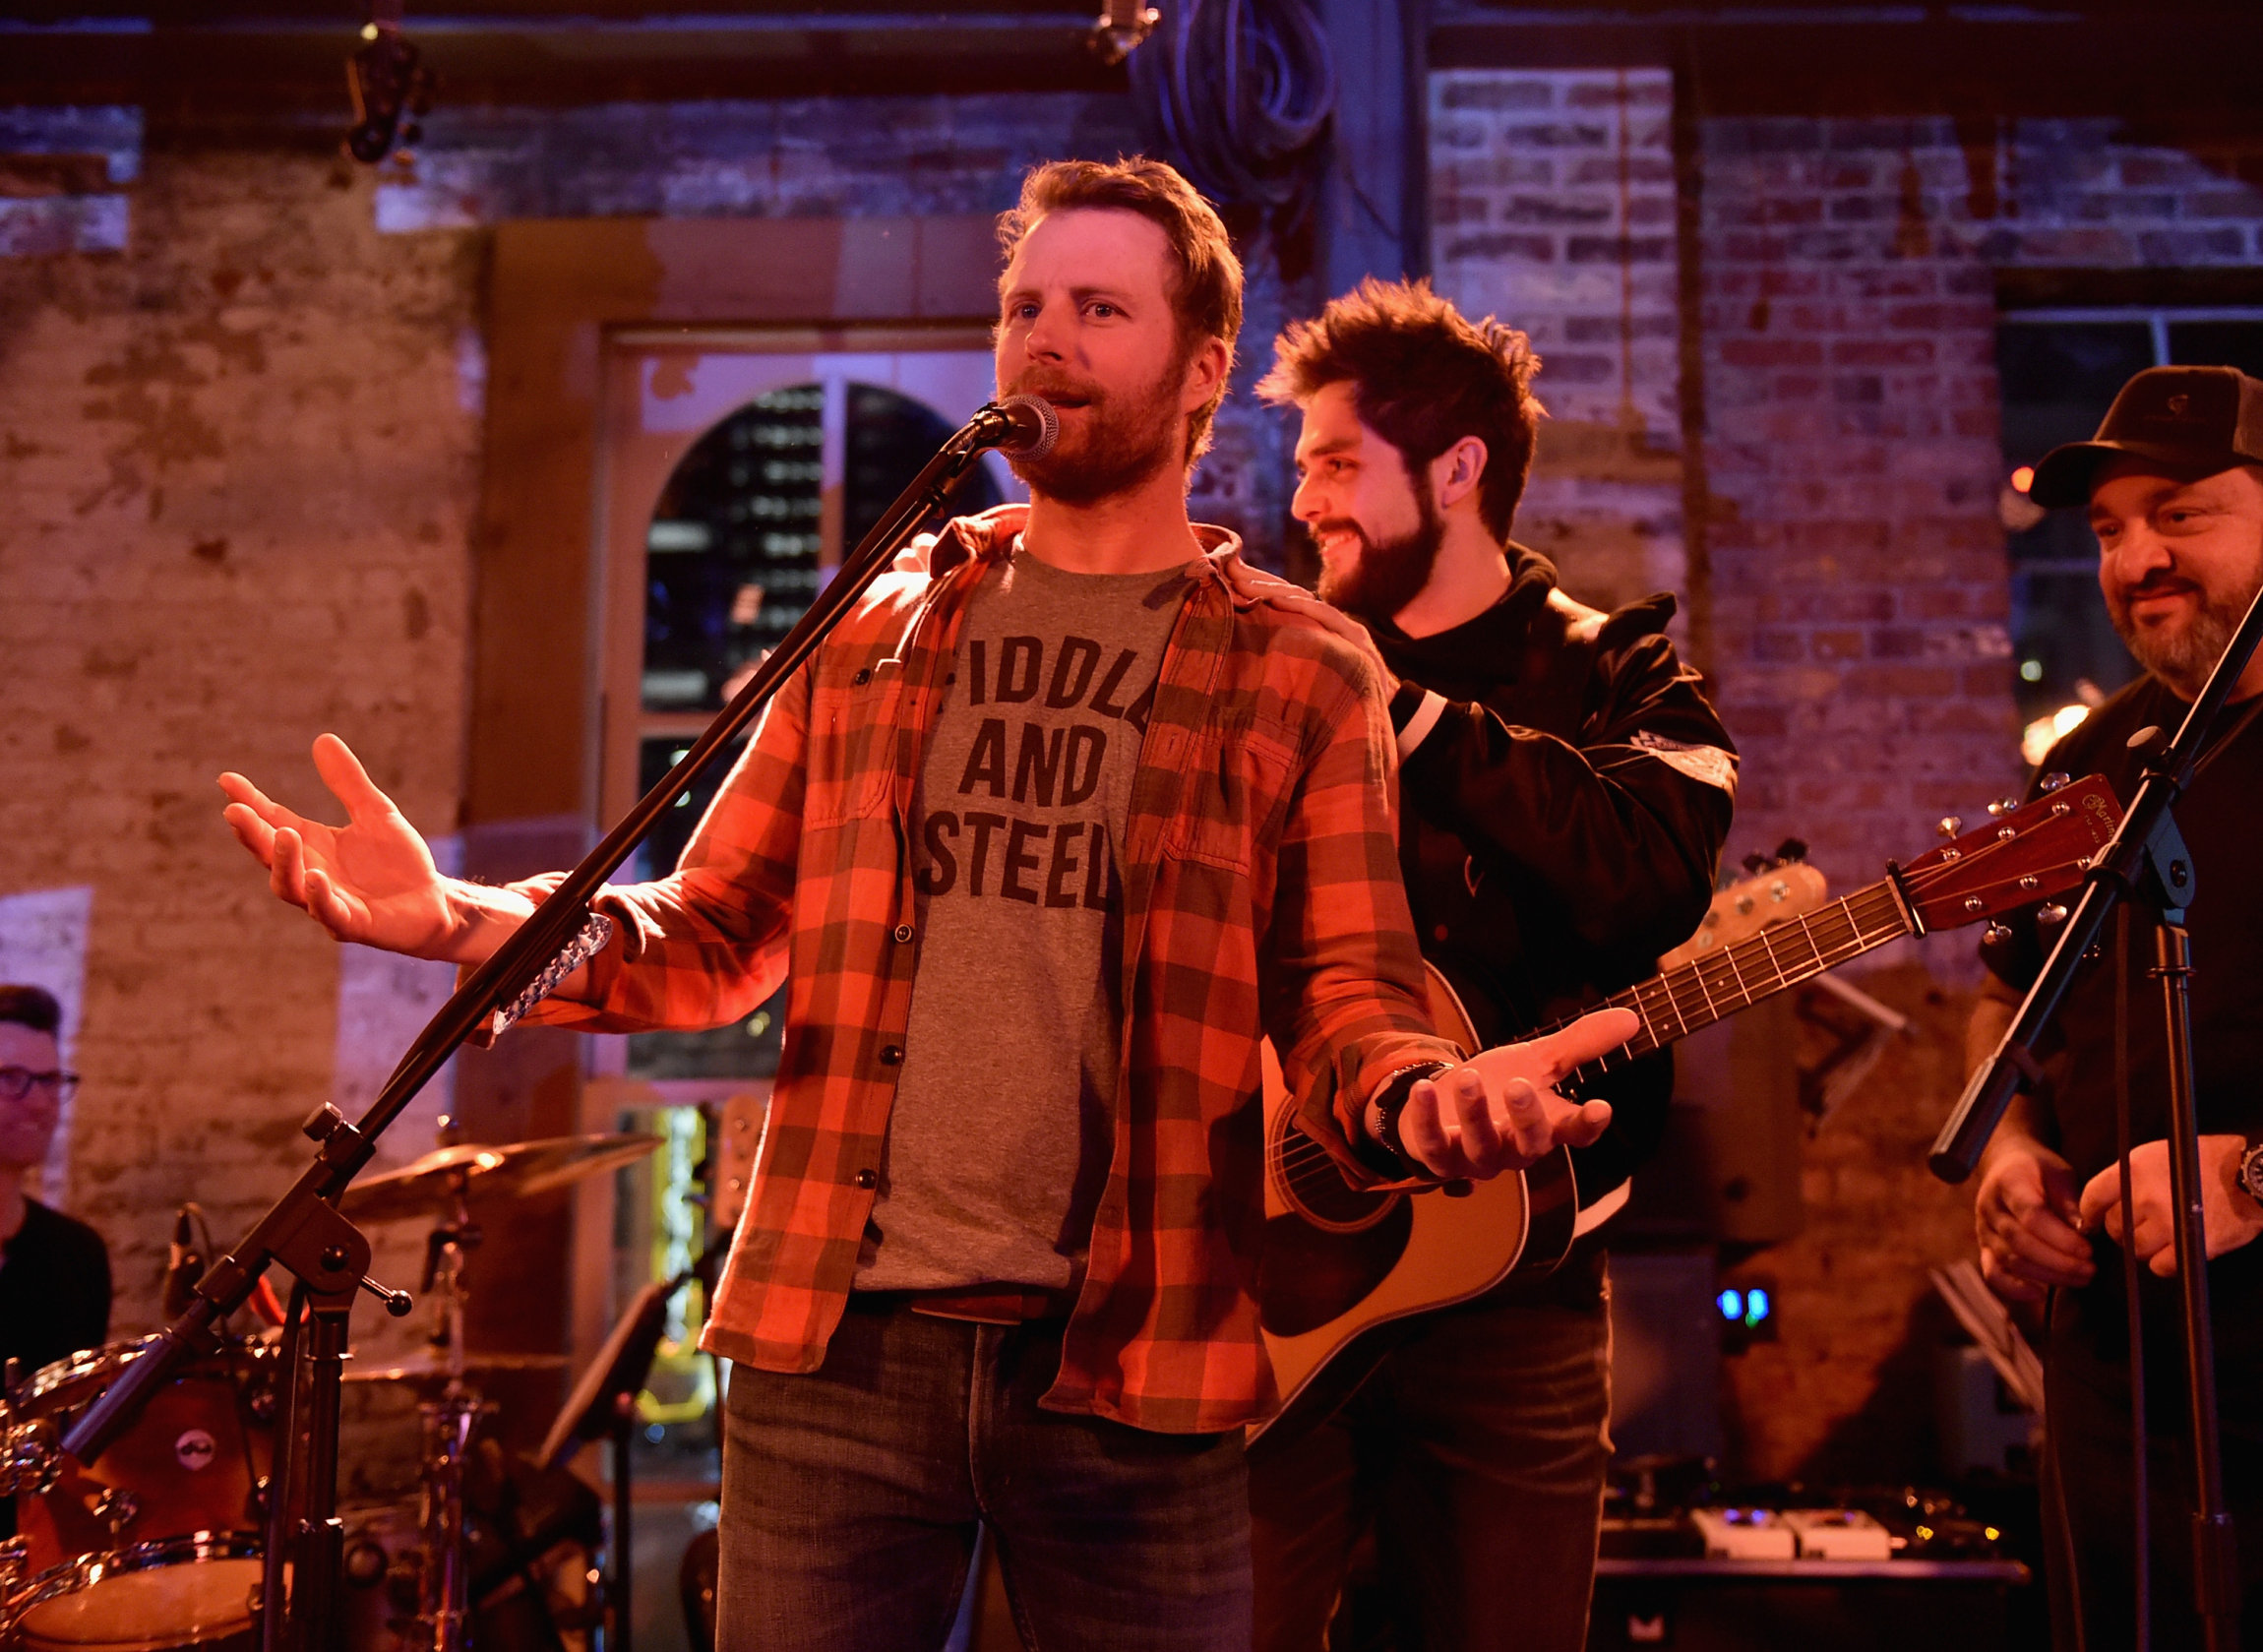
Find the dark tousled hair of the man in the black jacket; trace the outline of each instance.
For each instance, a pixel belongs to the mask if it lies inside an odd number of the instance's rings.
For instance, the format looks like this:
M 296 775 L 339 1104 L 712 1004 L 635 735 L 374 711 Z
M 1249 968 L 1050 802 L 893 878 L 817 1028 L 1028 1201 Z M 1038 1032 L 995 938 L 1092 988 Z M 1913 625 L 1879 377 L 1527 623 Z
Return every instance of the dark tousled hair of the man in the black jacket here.
M 1537 371 L 1541 358 L 1516 328 L 1494 317 L 1471 321 L 1428 281 L 1369 276 L 1274 339 L 1258 396 L 1303 405 L 1328 385 L 1351 385 L 1360 423 L 1399 448 L 1410 477 L 1462 437 L 1478 437 L 1478 514 L 1494 539 L 1507 539 L 1548 412 L 1532 394 Z

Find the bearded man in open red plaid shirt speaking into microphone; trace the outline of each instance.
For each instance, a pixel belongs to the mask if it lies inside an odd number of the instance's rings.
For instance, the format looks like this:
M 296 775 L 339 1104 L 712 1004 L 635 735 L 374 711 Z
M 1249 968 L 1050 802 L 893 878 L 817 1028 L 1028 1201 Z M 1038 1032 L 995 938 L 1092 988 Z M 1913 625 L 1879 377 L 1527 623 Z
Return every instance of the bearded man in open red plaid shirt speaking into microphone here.
M 534 1016 L 708 1027 L 788 980 L 706 1333 L 731 1652 L 930 1652 L 978 1523 L 1030 1645 L 1245 1652 L 1258 1041 L 1374 1184 L 1591 1141 L 1607 1109 L 1548 1086 L 1634 1032 L 1432 1034 L 1376 668 L 1186 516 L 1242 308 L 1217 215 L 1154 161 L 1057 163 L 1000 240 L 998 389 L 1061 414 L 1030 505 L 871 586 Z M 344 828 L 222 788 L 333 935 L 473 964 L 548 892 L 441 878 L 344 742 L 315 760 Z

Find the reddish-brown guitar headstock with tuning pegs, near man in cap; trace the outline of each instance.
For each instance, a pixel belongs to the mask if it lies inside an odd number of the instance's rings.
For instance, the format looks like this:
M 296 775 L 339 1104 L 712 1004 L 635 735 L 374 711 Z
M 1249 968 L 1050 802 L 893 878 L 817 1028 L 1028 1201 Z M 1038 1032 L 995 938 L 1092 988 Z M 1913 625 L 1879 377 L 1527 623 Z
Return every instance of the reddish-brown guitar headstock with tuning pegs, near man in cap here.
M 1899 869 L 1901 892 L 1928 930 L 1980 923 L 2080 889 L 2120 826 L 2105 776 L 2068 781 L 2025 808 L 1989 808 L 1989 824 Z M 1942 821 L 1951 831 L 1960 821 Z

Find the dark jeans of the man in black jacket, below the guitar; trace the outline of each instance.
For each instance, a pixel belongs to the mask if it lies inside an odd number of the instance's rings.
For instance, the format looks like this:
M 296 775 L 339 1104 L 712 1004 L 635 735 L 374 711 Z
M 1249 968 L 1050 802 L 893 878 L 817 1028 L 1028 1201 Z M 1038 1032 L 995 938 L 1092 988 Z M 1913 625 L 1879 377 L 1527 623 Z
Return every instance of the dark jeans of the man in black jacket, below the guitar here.
M 1256 1647 L 1580 1652 L 1611 1439 L 1600 1251 L 1412 1322 L 1319 1428 L 1258 1444 Z M 1378 1595 L 1344 1589 L 1376 1534 Z M 1342 1598 L 1342 1600 L 1340 1600 Z

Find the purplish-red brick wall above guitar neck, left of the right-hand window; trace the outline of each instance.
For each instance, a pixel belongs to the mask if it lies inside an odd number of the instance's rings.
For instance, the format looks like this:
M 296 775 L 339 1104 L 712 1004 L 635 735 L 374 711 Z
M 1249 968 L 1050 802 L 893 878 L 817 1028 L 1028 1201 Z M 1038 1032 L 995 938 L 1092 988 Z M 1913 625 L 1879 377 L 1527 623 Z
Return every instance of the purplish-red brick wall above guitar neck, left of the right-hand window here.
M 2238 170 L 2098 120 L 1704 122 L 1709 663 L 1740 846 L 1799 833 L 1869 878 L 2016 781 L 1996 272 L 2254 263 Z

